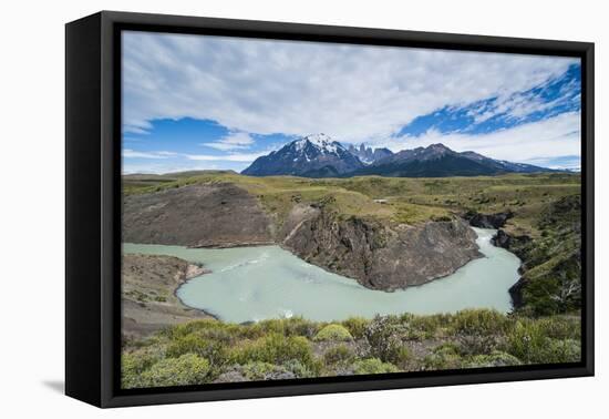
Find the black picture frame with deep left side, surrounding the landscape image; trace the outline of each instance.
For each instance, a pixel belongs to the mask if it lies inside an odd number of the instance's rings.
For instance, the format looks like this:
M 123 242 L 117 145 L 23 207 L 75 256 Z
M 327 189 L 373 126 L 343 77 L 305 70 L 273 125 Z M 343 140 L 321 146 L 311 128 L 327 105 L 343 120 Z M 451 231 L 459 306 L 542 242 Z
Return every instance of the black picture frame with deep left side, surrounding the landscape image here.
M 577 364 L 121 390 L 122 30 L 581 59 L 582 360 Z M 99 407 L 593 375 L 593 43 L 102 11 L 65 27 L 65 392 Z

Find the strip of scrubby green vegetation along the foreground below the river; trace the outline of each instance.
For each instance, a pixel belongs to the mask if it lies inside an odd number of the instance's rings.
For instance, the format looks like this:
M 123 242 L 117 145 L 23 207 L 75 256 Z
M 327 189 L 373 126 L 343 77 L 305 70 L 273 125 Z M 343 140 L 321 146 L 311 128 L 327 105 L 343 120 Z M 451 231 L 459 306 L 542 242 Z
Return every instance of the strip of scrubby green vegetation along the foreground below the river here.
M 577 316 L 534 319 L 481 309 L 332 324 L 205 319 L 125 341 L 122 384 L 165 387 L 579 360 Z

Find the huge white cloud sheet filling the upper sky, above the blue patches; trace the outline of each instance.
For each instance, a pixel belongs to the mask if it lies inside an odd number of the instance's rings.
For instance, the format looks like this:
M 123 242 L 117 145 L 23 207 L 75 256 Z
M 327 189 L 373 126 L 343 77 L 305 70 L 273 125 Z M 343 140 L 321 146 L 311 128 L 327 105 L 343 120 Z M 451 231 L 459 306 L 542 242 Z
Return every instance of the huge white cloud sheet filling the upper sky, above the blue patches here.
M 238 134 L 324 132 L 344 142 L 381 141 L 419 115 L 509 98 L 575 62 L 143 32 L 126 32 L 123 41 L 125 132 L 149 130 L 155 119 L 190 116 Z

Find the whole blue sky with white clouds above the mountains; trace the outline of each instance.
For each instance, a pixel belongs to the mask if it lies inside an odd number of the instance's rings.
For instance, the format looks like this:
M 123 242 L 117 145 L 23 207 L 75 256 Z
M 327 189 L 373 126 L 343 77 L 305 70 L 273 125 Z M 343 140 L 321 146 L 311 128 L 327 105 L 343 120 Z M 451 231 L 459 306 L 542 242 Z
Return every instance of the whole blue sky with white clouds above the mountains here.
M 580 166 L 580 61 L 123 32 L 123 172 L 241 171 L 298 137 Z

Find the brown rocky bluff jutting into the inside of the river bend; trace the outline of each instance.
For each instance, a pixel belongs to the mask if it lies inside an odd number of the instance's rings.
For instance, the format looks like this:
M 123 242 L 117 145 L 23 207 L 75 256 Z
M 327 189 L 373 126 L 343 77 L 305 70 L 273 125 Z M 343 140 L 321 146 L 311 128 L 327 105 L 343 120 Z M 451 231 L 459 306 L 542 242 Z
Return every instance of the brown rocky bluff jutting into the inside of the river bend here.
M 290 215 L 287 224 L 292 228 L 283 246 L 372 289 L 421 285 L 482 256 L 476 234 L 460 219 L 390 226 L 354 217 L 341 219 L 322 209 L 295 209 L 306 215 L 299 222 Z

